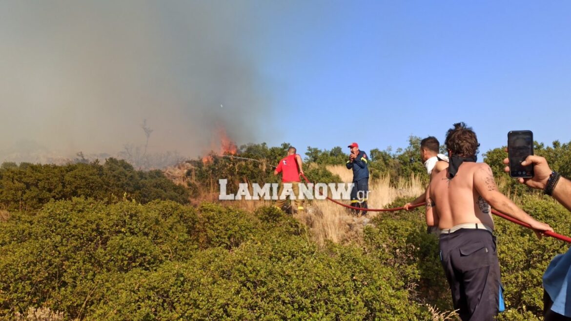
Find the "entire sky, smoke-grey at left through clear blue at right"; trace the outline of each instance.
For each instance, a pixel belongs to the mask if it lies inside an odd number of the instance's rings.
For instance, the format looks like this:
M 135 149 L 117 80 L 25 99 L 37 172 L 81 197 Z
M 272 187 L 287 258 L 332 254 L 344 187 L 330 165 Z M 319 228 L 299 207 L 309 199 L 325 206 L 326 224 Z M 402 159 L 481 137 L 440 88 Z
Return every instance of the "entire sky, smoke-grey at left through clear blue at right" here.
M 395 151 L 472 126 L 571 141 L 570 1 L 5 1 L 0 162 L 290 142 Z M 17 134 L 14 134 L 17 133 Z M 19 143 L 29 142 L 29 143 Z

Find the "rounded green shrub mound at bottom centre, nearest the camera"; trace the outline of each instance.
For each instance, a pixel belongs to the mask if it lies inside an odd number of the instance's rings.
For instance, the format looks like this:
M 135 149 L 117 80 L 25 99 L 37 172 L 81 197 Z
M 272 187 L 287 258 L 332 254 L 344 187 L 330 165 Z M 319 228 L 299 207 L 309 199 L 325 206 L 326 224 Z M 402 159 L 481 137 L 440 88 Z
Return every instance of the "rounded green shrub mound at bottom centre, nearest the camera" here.
M 419 320 L 397 272 L 356 248 L 302 238 L 212 248 L 154 272 L 134 271 L 93 320 Z

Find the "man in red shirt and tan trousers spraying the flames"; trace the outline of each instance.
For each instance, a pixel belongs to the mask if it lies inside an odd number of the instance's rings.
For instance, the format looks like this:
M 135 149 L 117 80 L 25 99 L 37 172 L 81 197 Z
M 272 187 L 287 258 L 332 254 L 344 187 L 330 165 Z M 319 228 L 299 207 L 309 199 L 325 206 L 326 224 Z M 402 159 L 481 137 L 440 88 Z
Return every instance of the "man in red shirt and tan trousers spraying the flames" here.
M 299 175 L 303 174 L 303 162 L 301 157 L 296 154 L 295 147 L 289 147 L 287 150 L 287 156 L 280 160 L 278 167 L 274 171 L 274 175 L 282 173 L 282 184 L 278 191 L 278 198 L 282 195 L 284 190 L 284 183 L 291 184 L 291 190 L 293 191 L 294 199 L 291 200 L 291 207 L 293 212 L 303 211 L 303 199 L 299 199 Z M 286 199 L 278 199 L 275 206 L 282 208 L 286 204 Z

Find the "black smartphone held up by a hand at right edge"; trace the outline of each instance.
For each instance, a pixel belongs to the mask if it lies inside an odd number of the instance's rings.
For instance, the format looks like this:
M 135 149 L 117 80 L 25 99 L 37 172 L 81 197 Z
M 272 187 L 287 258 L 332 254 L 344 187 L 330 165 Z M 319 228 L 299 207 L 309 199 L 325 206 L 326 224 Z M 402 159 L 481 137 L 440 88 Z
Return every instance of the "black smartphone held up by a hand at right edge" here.
M 533 133 L 530 130 L 513 130 L 508 133 L 509 175 L 533 177 L 533 164 L 522 166 L 521 162 L 533 155 Z

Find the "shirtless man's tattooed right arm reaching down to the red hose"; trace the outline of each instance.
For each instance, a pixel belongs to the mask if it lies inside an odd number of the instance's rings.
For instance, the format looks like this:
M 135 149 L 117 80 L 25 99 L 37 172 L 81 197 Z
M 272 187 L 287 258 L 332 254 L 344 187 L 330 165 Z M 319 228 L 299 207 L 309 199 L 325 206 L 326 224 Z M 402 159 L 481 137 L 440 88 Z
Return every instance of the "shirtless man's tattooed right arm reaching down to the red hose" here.
M 510 216 L 511 218 L 528 223 L 534 230 L 553 231 L 548 224 L 538 222 L 526 212 L 517 207 L 509 198 L 498 191 L 492 168 L 488 164 L 482 164 L 474 173 L 474 186 L 482 198 L 486 200 L 496 210 Z M 539 236 L 539 235 L 538 235 Z

